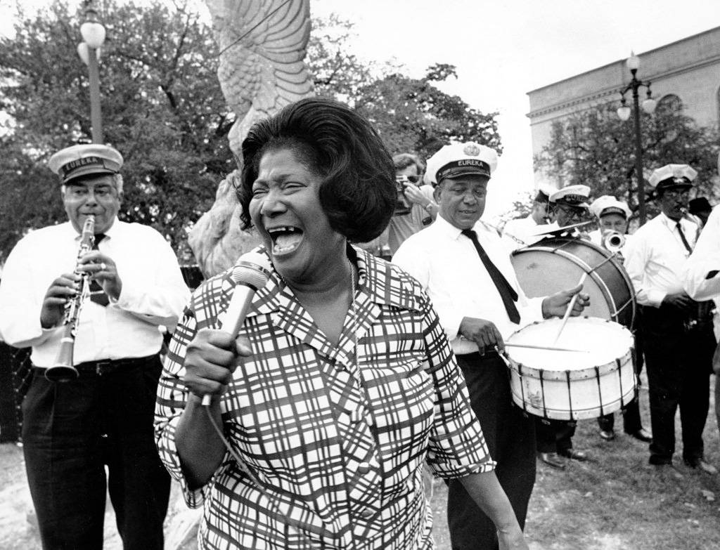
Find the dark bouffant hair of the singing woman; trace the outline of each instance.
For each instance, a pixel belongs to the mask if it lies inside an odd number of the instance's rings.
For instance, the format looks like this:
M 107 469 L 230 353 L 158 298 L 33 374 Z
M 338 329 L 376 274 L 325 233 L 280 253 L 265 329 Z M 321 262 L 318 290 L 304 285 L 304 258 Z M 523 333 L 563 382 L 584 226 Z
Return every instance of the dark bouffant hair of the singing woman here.
M 320 204 L 330 226 L 350 242 L 368 242 L 390 222 L 395 208 L 395 168 L 369 122 L 338 101 L 305 98 L 253 124 L 243 141 L 238 199 L 243 229 L 266 152 L 289 149 L 322 178 Z

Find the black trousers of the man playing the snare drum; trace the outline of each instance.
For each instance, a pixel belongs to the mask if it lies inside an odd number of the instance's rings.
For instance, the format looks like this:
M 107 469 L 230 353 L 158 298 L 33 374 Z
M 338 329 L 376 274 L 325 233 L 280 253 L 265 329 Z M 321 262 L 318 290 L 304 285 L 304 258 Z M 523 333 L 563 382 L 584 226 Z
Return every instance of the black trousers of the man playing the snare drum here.
M 513 404 L 508 367 L 497 353 L 459 355 L 457 361 L 490 456 L 498 463 L 495 475 L 524 527 L 535 485 L 533 420 Z M 448 484 L 448 526 L 453 550 L 498 548 L 495 525 L 456 480 Z

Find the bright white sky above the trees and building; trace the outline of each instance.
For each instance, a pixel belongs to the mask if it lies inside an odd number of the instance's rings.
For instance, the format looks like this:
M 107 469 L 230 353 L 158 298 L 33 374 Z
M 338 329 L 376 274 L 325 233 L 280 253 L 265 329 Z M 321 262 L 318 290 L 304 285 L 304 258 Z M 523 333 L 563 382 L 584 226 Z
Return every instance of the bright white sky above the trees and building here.
M 0 12 L 16 3 L 41 2 L 0 0 Z M 456 65 L 444 91 L 500 113 L 491 217 L 534 189 L 528 91 L 720 26 L 717 0 L 310 0 L 310 10 L 354 22 L 361 59 L 394 58 L 415 77 L 433 63 Z

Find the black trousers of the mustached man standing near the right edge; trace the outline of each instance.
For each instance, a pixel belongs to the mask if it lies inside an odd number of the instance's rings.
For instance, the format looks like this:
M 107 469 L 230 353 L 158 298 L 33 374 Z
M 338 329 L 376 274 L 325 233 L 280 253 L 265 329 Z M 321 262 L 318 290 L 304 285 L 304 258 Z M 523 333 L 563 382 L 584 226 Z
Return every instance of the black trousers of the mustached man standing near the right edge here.
M 667 306 L 644 307 L 643 320 L 652 423 L 650 462 L 672 463 L 678 407 L 683 458 L 702 458 L 715 350 L 712 324 L 698 324 L 688 330 L 677 310 Z

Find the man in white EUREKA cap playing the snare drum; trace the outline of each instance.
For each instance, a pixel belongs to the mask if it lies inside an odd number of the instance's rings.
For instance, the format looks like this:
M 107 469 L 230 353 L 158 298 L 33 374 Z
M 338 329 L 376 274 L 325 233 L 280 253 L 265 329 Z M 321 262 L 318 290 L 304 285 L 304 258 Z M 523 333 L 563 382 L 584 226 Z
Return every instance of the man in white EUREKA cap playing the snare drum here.
M 524 324 L 562 316 L 580 286 L 528 299 L 497 230 L 480 221 L 498 157 L 474 142 L 446 145 L 426 175 L 439 205 L 436 221 L 400 245 L 393 262 L 420 282 L 462 368 L 500 485 L 521 526 L 535 481 L 534 422 L 512 403 L 508 369 L 498 349 Z M 575 315 L 589 303 L 580 294 Z M 495 526 L 462 485 L 449 483 L 448 523 L 456 550 L 492 548 Z

